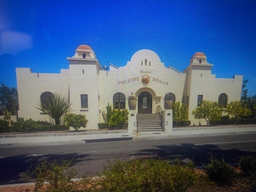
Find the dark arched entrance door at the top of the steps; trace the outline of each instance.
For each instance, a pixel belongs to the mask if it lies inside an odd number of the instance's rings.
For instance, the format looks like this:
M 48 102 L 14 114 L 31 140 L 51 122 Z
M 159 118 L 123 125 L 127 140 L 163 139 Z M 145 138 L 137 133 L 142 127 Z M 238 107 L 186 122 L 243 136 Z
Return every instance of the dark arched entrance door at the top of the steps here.
M 147 91 L 138 95 L 138 113 L 152 113 L 152 95 Z

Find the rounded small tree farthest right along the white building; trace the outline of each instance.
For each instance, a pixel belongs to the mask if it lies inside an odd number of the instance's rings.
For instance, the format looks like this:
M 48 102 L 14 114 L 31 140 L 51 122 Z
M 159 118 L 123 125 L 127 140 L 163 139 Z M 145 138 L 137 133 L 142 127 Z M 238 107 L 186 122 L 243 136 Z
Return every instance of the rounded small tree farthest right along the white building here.
M 227 104 L 226 112 L 228 115 L 232 115 L 236 124 L 239 123 L 243 117 L 252 115 L 250 108 L 243 106 L 240 101 L 232 101 L 230 104 Z

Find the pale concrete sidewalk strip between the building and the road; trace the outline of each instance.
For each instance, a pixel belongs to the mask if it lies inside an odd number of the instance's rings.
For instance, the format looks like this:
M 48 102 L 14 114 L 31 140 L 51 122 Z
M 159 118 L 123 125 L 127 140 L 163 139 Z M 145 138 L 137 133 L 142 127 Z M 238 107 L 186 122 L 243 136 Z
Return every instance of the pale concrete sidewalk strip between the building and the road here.
M 103 130 L 85 132 L 54 132 L 54 133 L 19 133 L 0 135 L 0 147 L 4 146 L 31 146 L 106 142 L 117 140 L 137 140 L 154 138 L 175 138 L 203 135 L 256 133 L 256 125 L 228 125 L 228 126 L 190 126 L 173 128 L 172 132 L 138 132 L 128 134 L 128 130 Z

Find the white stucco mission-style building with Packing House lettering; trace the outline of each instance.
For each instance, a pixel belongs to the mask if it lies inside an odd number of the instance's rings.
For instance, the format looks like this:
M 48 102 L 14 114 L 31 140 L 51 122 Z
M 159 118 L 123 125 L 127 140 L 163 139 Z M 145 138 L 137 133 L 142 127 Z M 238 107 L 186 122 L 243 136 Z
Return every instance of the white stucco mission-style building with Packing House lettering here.
M 109 70 L 102 69 L 88 45 L 78 46 L 74 56 L 67 59 L 69 69 L 62 69 L 59 74 L 16 68 L 19 117 L 49 120 L 35 108 L 49 92 L 66 96 L 72 103 L 72 112 L 84 114 L 89 120 L 86 129 L 97 129 L 97 124 L 104 122 L 102 111 L 106 111 L 108 103 L 127 109 L 131 118 L 140 113 L 154 114 L 157 106 L 164 110 L 165 100 L 171 99 L 187 104 L 191 125 L 198 125 L 199 120 L 194 119 L 191 112 L 201 100 L 217 101 L 224 106 L 240 100 L 243 77 L 216 78 L 211 73 L 213 65 L 202 52 L 192 56 L 184 72 L 171 66 L 166 68 L 151 50 L 139 50 L 126 66 L 110 64 Z M 135 110 L 128 107 L 131 95 L 137 99 Z M 206 124 L 205 120 L 200 122 Z

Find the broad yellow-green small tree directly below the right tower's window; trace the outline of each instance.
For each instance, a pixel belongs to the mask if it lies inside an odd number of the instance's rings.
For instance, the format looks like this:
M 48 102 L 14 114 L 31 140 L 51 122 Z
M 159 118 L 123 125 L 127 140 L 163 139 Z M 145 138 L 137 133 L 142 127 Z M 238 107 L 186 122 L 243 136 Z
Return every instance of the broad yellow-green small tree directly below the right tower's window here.
M 219 120 L 222 114 L 222 108 L 219 106 L 218 102 L 213 101 L 202 101 L 201 106 L 197 106 L 196 109 L 192 111 L 192 115 L 196 119 L 205 119 L 207 125 L 210 120 Z

